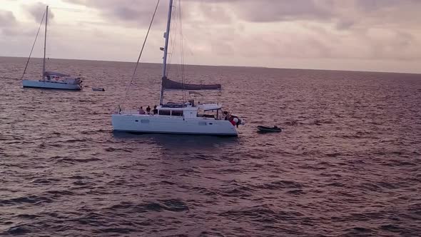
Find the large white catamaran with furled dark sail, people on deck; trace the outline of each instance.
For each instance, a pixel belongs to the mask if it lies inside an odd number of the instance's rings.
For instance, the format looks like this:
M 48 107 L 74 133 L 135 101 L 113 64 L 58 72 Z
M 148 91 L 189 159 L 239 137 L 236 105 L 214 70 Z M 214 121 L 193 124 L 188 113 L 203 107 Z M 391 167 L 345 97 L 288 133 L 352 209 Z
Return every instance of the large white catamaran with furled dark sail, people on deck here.
M 169 90 L 208 90 L 221 89 L 220 84 L 195 85 L 182 84 L 167 78 L 168 41 L 170 38 L 171 12 L 173 0 L 169 0 L 168 21 L 166 26 L 165 47 L 163 48 L 163 69 L 159 106 L 151 114 L 118 111 L 112 115 L 114 131 L 135 133 L 178 133 L 215 136 L 238 136 L 237 127 L 244 121 L 222 111 L 221 104 L 195 104 L 193 100 L 179 104 L 163 104 L 163 94 Z

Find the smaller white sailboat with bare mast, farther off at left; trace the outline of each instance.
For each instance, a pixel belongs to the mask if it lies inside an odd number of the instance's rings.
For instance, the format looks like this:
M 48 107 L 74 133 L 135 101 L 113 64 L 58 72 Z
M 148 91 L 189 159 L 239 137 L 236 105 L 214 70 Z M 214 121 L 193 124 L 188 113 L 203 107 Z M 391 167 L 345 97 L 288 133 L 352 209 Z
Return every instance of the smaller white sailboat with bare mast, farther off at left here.
M 44 88 L 44 89 L 65 89 L 65 90 L 81 90 L 81 79 L 71 77 L 66 74 L 61 74 L 59 72 L 54 71 L 46 71 L 46 41 L 47 41 L 47 25 L 48 25 L 48 18 L 49 18 L 49 6 L 46 6 L 45 12 L 45 33 L 44 33 L 44 59 L 42 63 L 42 79 L 39 81 L 34 80 L 22 80 L 22 86 L 24 87 L 33 87 L 33 88 Z M 37 34 L 38 36 L 38 34 Z M 36 41 L 36 39 L 35 39 Z M 35 44 L 35 42 L 34 42 Z M 32 46 L 34 49 L 34 46 Z M 31 51 L 32 54 L 32 51 Z M 29 59 L 31 55 L 29 55 Z M 29 62 L 28 59 L 28 62 Z M 26 63 L 26 67 L 28 66 L 28 62 Z M 26 67 L 24 70 L 24 74 L 22 75 L 22 79 L 26 72 Z

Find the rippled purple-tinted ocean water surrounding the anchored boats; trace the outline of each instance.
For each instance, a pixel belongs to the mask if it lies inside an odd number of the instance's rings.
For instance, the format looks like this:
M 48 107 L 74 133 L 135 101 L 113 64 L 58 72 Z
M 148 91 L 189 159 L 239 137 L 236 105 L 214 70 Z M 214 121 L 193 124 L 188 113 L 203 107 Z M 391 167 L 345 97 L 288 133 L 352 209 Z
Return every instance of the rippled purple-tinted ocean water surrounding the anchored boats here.
M 25 60 L 0 58 L 0 236 L 421 236 L 421 75 L 186 66 L 238 138 L 131 135 L 111 113 L 155 105 L 160 65 L 127 92 L 133 64 L 51 59 L 88 86 L 54 91 Z

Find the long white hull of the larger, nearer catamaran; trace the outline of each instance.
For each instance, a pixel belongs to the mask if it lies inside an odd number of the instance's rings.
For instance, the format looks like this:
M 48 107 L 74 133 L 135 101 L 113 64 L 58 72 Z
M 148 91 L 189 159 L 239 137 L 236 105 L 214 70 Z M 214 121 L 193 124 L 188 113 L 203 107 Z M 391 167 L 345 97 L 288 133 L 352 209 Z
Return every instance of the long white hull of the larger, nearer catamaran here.
M 174 116 L 113 114 L 114 131 L 133 133 L 176 133 L 191 135 L 238 136 L 226 120 L 183 119 Z

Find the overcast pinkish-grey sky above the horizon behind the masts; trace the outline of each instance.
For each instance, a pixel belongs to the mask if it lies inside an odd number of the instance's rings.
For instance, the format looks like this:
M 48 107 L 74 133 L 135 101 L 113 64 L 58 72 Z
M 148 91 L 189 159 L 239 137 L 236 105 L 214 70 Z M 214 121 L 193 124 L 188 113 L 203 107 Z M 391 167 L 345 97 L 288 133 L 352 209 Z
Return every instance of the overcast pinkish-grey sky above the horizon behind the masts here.
M 136 61 L 156 4 L 156 0 L 0 2 L 0 56 L 29 55 L 49 4 L 49 57 L 110 61 Z M 421 73 L 421 0 L 175 3 L 175 18 L 181 10 L 186 64 Z M 167 9 L 168 0 L 161 0 L 142 61 L 161 62 Z M 180 25 L 174 22 L 175 27 Z M 177 42 L 179 28 L 172 35 Z M 37 41 L 34 56 L 42 55 L 42 40 Z

